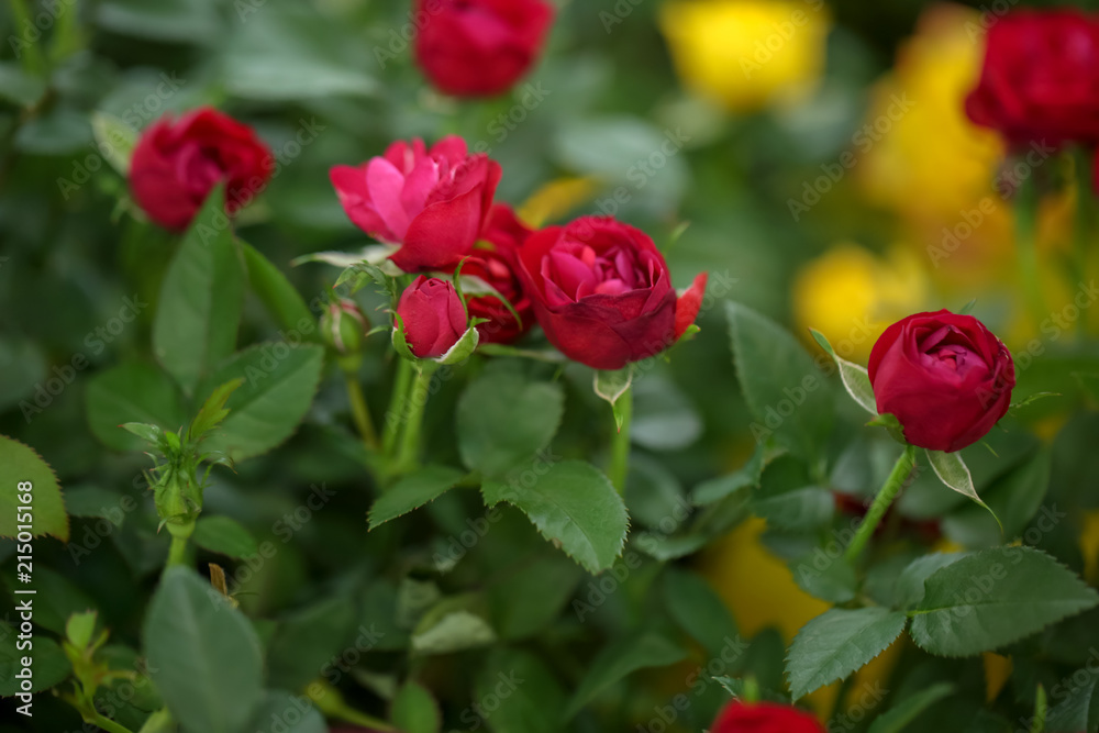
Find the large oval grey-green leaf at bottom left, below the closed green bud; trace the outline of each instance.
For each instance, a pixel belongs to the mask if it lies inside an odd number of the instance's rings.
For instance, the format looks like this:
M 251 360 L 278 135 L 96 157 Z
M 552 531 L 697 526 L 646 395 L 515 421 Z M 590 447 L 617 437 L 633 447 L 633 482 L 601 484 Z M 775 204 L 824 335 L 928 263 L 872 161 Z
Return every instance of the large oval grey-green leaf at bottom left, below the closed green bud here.
M 145 620 L 149 674 L 184 733 L 240 733 L 263 700 L 252 624 L 190 568 L 169 567 Z

